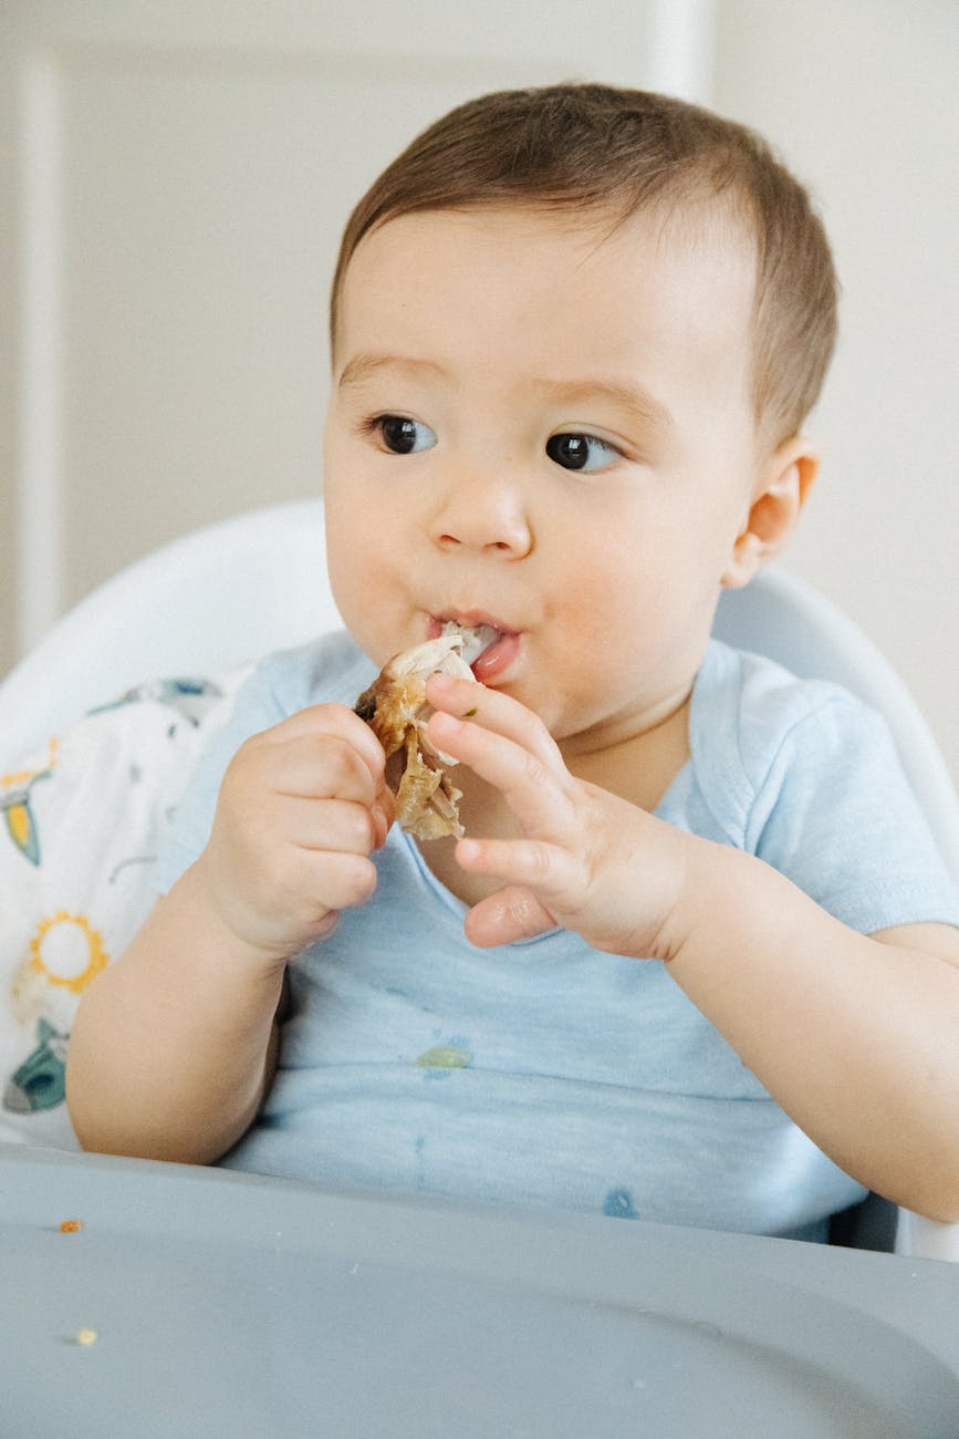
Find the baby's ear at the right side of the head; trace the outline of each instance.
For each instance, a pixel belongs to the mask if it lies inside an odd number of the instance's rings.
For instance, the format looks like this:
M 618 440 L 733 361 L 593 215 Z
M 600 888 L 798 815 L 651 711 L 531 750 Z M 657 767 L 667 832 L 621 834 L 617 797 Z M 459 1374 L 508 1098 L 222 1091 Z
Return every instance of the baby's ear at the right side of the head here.
M 746 524 L 736 535 L 720 583 L 739 590 L 756 570 L 785 548 L 820 468 L 811 440 L 795 435 L 779 445 L 759 469 Z

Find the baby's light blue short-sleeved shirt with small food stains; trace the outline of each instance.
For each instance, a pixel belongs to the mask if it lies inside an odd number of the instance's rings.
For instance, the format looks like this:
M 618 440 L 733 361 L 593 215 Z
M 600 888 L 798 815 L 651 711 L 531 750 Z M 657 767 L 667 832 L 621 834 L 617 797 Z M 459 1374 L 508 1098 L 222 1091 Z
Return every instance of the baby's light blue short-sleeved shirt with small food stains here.
M 203 849 L 226 764 L 374 675 L 345 635 L 275 655 L 201 763 L 157 868 Z M 845 691 L 712 642 L 690 760 L 657 814 L 758 855 L 863 932 L 959 924 L 883 721 Z M 280 1066 L 223 1163 L 266 1174 L 625 1219 L 820 1236 L 863 1187 L 808 1140 L 659 961 L 552 931 L 496 950 L 394 826 L 374 898 L 289 970 Z M 779 1020 L 782 1022 L 782 1020 Z

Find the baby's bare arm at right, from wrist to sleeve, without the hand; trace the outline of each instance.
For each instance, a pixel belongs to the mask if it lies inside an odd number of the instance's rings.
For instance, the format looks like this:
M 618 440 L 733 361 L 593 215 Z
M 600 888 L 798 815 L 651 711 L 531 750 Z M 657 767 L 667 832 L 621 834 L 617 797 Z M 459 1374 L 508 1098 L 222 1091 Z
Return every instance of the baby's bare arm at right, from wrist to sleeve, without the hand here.
M 719 921 L 690 925 L 673 979 L 841 1168 L 959 1220 L 959 931 L 861 935 L 762 861 L 717 858 Z

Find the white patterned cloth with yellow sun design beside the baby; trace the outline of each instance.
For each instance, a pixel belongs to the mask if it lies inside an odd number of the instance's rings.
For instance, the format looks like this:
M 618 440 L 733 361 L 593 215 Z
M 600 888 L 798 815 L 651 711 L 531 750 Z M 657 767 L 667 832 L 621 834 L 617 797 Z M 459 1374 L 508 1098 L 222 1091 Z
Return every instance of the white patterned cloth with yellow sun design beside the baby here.
M 76 1148 L 76 1004 L 152 907 L 164 827 L 247 673 L 151 682 L 0 753 L 0 1140 Z

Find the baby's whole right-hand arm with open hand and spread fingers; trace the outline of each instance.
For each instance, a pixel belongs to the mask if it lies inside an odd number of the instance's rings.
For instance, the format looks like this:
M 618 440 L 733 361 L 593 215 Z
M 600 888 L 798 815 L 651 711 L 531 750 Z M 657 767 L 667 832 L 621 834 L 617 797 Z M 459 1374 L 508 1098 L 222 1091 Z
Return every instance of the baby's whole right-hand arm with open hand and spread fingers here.
M 503 885 L 467 915 L 469 938 L 559 924 L 663 960 L 837 1164 L 959 1220 L 959 931 L 857 934 L 762 861 L 577 780 L 535 715 L 456 684 L 430 682 L 430 738 L 503 794 L 522 835 L 459 842 L 464 869 Z

